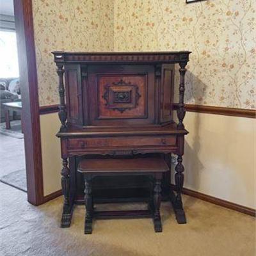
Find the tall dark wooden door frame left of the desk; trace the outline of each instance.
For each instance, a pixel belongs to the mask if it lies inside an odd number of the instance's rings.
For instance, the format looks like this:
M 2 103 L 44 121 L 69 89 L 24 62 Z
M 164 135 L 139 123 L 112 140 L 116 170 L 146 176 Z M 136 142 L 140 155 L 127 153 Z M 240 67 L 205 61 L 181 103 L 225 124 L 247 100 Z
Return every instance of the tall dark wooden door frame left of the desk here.
M 45 200 L 32 0 L 14 0 L 13 4 L 22 95 L 28 202 L 40 205 Z

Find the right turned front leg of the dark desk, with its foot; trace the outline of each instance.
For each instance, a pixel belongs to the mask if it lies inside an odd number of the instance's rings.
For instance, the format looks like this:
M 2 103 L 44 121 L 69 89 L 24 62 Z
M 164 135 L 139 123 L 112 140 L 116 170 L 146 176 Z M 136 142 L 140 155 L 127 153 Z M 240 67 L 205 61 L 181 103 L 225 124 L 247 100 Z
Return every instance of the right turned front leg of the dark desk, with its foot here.
M 179 224 L 186 223 L 186 215 L 182 205 L 181 191 L 184 183 L 184 166 L 182 164 L 182 155 L 178 155 L 177 165 L 175 167 L 175 186 L 177 195 L 172 195 L 172 205 L 175 211 L 176 220 Z

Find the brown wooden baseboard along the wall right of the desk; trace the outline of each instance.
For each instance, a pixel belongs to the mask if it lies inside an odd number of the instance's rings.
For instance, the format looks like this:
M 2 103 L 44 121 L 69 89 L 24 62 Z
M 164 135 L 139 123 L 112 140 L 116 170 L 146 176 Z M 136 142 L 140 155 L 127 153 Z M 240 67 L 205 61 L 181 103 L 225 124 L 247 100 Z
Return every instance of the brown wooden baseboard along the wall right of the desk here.
M 256 217 L 256 210 L 255 209 L 245 207 L 243 205 L 234 204 L 232 202 L 228 202 L 228 201 L 222 200 L 220 198 L 216 198 L 214 196 L 205 195 L 203 193 L 193 191 L 193 190 L 187 189 L 187 188 L 183 188 L 182 193 L 184 195 L 193 196 L 193 197 L 198 198 L 200 200 L 204 200 L 205 202 L 220 205 L 222 207 L 225 207 L 225 208 L 237 211 L 237 212 L 242 212 L 244 214 Z

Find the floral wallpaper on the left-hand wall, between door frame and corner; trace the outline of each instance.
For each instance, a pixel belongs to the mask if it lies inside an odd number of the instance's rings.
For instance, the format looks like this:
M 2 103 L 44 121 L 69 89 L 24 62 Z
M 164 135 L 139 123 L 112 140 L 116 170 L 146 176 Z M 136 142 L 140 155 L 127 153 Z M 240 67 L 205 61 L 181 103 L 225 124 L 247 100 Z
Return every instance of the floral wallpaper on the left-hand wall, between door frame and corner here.
M 33 0 L 40 106 L 58 104 L 52 51 L 113 51 L 113 0 Z

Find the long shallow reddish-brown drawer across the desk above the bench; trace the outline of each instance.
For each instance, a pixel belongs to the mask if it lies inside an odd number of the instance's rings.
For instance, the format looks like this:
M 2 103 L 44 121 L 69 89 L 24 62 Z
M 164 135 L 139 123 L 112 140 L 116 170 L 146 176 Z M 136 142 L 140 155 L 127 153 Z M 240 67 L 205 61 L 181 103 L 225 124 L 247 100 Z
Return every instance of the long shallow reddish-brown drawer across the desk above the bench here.
M 108 138 L 72 138 L 67 141 L 68 150 L 89 148 L 137 148 L 137 147 L 175 147 L 175 136 L 132 136 Z

